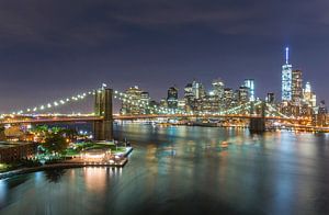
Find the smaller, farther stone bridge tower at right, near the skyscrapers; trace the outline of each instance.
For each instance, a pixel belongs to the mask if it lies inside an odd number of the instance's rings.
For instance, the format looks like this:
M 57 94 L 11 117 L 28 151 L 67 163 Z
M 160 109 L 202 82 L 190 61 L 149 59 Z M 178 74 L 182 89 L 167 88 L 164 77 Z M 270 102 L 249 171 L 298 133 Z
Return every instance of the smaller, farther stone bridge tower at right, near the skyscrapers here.
M 257 116 L 252 117 L 254 114 L 254 103 L 251 103 L 250 106 L 250 122 L 249 131 L 251 133 L 263 133 L 265 132 L 265 102 L 262 101 L 260 113 Z

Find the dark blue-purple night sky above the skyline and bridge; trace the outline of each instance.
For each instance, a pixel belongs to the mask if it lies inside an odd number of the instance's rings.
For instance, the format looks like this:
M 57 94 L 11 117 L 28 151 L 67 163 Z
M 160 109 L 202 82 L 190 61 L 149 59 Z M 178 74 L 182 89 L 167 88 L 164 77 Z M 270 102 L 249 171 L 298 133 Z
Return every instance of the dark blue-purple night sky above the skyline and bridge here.
M 327 0 L 1 0 L 0 113 L 102 82 L 151 98 L 220 77 L 281 98 L 284 47 L 329 100 Z

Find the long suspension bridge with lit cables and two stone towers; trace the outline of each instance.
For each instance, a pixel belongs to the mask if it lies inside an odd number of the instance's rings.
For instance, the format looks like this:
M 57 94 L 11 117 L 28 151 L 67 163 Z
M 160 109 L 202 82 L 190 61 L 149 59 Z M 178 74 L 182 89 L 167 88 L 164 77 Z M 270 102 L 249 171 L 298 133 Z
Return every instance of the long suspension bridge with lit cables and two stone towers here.
M 50 110 L 69 105 L 72 102 L 86 100 L 93 97 L 93 114 L 52 114 Z M 120 100 L 131 103 L 131 105 L 141 106 L 151 110 L 148 114 L 124 115 L 113 114 L 113 100 Z M 45 112 L 47 114 L 44 114 Z M 281 127 L 299 128 L 308 131 L 328 132 L 327 127 L 310 126 L 310 118 L 287 116 L 280 112 L 273 104 L 264 101 L 250 101 L 245 104 L 218 112 L 186 112 L 183 110 L 173 110 L 157 105 L 149 105 L 147 102 L 139 100 L 133 101 L 132 98 L 117 90 L 102 87 L 80 93 L 67 99 L 60 99 L 43 105 L 27 108 L 25 110 L 13 111 L 9 114 L 1 115 L 0 125 L 16 124 L 52 124 L 52 123 L 79 123 L 89 122 L 93 125 L 93 137 L 98 140 L 109 140 L 113 138 L 114 121 L 157 121 L 157 120 L 245 120 L 248 121 L 250 132 L 260 133 L 269 129 L 268 122 L 271 125 L 282 125 Z

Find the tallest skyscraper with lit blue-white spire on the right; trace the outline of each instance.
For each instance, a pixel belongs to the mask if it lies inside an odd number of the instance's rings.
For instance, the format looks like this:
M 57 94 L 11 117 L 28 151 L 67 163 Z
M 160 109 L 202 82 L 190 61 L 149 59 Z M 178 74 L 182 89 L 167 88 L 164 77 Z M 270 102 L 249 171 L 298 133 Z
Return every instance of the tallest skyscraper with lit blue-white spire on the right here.
M 288 64 L 290 48 L 285 48 L 285 64 L 282 66 L 282 101 L 292 100 L 293 66 Z

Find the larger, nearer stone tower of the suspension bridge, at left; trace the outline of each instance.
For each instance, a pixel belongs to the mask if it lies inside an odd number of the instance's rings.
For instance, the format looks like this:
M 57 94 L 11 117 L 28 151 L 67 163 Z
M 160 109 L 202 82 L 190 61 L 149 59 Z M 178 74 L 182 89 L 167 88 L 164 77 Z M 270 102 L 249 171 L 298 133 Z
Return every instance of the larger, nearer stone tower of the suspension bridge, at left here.
M 94 94 L 94 114 L 103 117 L 93 123 L 95 140 L 113 139 L 112 89 L 103 88 Z

